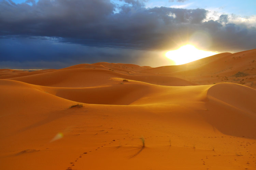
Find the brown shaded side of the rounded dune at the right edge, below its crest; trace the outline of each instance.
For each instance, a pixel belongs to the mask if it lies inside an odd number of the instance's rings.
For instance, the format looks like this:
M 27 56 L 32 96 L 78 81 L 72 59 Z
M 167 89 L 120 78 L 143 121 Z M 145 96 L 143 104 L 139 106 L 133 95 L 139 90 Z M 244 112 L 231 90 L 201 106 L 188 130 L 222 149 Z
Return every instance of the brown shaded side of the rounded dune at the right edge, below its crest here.
M 220 132 L 256 138 L 256 90 L 234 83 L 219 83 L 209 88 L 202 116 Z

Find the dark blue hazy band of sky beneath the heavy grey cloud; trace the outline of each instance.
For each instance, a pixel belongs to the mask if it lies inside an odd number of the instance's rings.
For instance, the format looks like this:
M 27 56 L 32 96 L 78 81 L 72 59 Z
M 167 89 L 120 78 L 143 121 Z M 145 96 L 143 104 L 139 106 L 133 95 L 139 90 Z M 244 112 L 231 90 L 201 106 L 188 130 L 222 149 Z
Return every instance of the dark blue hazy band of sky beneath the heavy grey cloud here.
M 162 66 L 170 60 L 158 52 L 121 48 L 98 48 L 59 43 L 48 37 L 0 39 L 0 69 L 64 68 L 81 63 L 135 63 Z

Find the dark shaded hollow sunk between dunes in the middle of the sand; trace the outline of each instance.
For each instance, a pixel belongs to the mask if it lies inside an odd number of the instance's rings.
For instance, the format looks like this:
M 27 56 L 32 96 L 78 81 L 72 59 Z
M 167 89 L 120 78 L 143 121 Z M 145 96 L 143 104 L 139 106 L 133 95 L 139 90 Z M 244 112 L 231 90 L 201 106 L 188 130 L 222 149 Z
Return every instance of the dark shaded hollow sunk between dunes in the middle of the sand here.
M 151 84 L 112 84 L 98 87 L 42 87 L 45 91 L 68 100 L 87 104 L 129 105 L 150 92 Z

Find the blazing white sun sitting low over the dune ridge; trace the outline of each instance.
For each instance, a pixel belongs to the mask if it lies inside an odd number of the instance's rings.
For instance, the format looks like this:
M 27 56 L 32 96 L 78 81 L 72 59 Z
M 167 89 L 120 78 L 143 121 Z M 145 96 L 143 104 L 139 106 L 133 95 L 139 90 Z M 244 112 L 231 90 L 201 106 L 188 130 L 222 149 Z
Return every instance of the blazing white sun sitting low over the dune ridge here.
M 168 51 L 165 55 L 170 60 L 174 61 L 176 65 L 186 64 L 217 54 L 216 52 L 198 50 L 192 45 L 185 45 L 177 50 Z

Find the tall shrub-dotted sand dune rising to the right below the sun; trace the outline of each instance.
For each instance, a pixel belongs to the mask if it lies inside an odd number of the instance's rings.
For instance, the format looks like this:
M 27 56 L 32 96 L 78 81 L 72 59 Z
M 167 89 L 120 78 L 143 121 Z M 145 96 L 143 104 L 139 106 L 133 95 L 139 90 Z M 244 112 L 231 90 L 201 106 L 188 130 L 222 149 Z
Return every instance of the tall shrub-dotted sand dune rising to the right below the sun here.
M 232 82 L 246 84 L 256 80 L 256 49 L 238 53 L 221 53 L 179 65 L 143 70 L 143 73 L 171 75 L 194 83 Z

